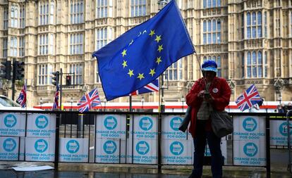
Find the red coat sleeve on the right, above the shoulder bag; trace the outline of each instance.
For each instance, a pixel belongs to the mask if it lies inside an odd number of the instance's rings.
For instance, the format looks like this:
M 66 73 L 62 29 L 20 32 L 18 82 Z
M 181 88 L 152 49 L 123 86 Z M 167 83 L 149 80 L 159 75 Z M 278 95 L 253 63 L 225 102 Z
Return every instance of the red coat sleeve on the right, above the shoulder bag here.
M 216 110 L 224 110 L 226 106 L 229 105 L 231 96 L 231 89 L 226 80 L 222 79 L 220 85 L 222 89 L 221 96 L 219 96 L 218 98 L 214 98 L 213 102 L 213 108 L 215 108 Z

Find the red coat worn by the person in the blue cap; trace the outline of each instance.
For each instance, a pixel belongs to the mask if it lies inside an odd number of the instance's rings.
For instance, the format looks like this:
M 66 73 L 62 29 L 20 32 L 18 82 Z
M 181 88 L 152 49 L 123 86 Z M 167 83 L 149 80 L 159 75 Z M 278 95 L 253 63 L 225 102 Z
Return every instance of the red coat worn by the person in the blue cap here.
M 202 104 L 202 98 L 198 97 L 197 94 L 199 94 L 199 92 L 202 90 L 205 90 L 205 82 L 201 78 L 195 82 L 192 89 L 185 97 L 187 105 L 191 106 L 192 108 L 189 132 L 192 134 L 193 138 L 195 137 L 197 112 L 199 111 Z M 212 102 L 213 109 L 221 111 L 229 105 L 231 89 L 224 78 L 215 77 L 210 84 L 209 93 L 214 98 L 214 101 Z M 206 129 L 211 129 L 211 120 L 208 120 Z

